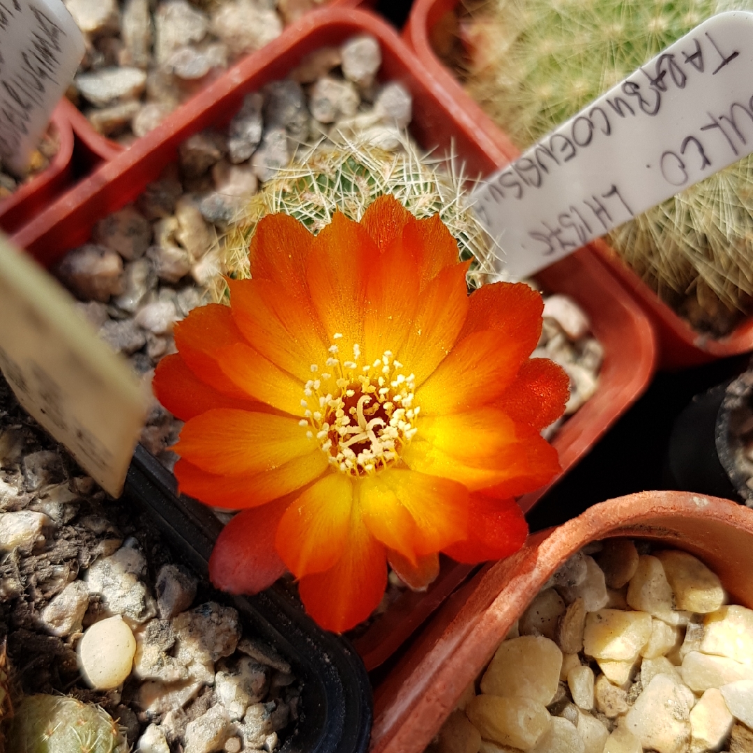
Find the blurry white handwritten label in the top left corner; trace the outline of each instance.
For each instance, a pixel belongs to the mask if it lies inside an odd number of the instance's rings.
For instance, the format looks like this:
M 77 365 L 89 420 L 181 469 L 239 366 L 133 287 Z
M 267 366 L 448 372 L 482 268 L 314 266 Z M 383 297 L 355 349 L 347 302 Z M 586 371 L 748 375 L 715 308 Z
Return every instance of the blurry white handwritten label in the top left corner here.
M 0 159 L 23 175 L 84 56 L 61 0 L 0 0 Z

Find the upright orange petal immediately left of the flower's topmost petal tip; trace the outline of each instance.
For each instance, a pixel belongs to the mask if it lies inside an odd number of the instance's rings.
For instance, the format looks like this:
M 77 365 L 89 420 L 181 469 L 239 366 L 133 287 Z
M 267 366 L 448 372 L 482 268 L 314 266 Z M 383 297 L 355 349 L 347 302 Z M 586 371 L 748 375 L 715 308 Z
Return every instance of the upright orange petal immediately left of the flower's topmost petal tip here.
M 306 279 L 314 309 L 326 336 L 331 338 L 335 332 L 342 334 L 341 343 L 347 351 L 354 343 L 364 344 L 364 270 L 378 254 L 377 245 L 366 230 L 337 212 L 316 236 L 309 255 Z

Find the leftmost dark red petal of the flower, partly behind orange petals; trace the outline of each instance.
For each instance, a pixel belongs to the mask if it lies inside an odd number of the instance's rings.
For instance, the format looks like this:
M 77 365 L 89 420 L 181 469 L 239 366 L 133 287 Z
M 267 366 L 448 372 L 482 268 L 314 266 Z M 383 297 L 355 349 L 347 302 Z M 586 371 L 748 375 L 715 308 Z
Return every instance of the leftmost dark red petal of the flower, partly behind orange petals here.
M 213 408 L 261 408 L 261 403 L 230 398 L 202 382 L 178 353 L 166 355 L 157 364 L 151 387 L 157 400 L 181 421 L 192 419 Z

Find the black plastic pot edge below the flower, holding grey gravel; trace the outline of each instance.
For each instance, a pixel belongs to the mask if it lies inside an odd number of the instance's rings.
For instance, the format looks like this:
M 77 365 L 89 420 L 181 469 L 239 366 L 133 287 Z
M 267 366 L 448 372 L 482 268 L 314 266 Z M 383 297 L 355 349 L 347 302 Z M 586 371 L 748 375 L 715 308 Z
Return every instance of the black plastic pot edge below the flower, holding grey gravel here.
M 160 529 L 175 554 L 206 578 L 222 523 L 197 501 L 175 495 L 175 477 L 139 445 L 124 495 Z M 325 633 L 277 584 L 258 596 L 227 597 L 252 630 L 303 681 L 300 719 L 281 753 L 362 753 L 369 744 L 371 687 L 349 642 Z

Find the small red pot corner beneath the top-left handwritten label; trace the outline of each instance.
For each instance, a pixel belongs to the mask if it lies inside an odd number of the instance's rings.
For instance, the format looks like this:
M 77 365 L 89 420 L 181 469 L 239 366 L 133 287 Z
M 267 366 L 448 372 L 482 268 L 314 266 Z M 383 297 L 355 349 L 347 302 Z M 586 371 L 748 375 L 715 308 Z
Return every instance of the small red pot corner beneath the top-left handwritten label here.
M 68 119 L 67 100 L 53 110 L 50 122 L 60 139 L 50 164 L 21 185 L 11 196 L 0 200 L 0 229 L 13 233 L 38 215 L 69 184 L 72 173 L 73 131 Z

